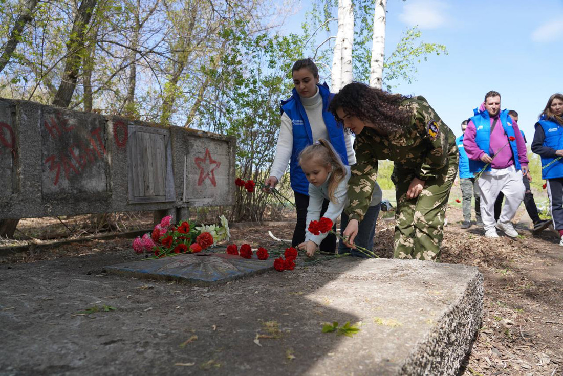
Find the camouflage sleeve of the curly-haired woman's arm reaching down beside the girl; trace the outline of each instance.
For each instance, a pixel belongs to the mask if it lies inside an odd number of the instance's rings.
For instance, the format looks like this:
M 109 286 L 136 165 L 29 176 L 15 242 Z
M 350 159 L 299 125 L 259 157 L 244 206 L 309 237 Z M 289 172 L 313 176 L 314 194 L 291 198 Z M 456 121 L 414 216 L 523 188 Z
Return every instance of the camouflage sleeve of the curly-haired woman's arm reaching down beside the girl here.
M 356 136 L 356 164 L 350 167 L 352 176 L 348 181 L 350 205 L 346 214 L 350 220 L 363 220 L 372 200 L 373 187 L 377 179 L 377 158 L 369 150 L 369 142 L 363 136 Z

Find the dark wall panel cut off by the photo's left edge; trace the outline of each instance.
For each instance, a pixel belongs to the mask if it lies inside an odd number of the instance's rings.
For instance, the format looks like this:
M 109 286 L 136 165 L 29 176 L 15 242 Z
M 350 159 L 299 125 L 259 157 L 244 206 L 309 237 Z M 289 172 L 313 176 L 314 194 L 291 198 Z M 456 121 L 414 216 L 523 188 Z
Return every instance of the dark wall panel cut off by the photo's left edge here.
M 14 114 L 15 106 L 0 101 L 0 197 L 14 193 L 17 155 Z

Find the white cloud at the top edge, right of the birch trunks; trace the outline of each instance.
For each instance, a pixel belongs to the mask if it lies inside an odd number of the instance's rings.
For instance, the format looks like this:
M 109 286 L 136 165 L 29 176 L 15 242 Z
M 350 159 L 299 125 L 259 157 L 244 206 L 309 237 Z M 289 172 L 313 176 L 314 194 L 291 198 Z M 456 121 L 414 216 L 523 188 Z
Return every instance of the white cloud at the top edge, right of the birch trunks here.
M 437 29 L 448 24 L 448 8 L 447 3 L 438 0 L 409 0 L 399 19 L 409 26 L 418 25 L 419 29 Z

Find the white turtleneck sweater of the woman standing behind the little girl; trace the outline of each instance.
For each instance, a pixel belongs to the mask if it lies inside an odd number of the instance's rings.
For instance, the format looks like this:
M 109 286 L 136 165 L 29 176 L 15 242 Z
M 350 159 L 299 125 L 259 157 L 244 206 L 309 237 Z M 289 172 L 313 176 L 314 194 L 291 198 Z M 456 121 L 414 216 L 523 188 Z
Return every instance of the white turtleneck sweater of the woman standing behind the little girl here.
M 327 126 L 325 125 L 323 119 L 323 97 L 321 97 L 319 93 L 319 88 L 317 87 L 317 92 L 314 96 L 310 98 L 300 97 L 300 99 L 301 104 L 303 104 L 303 108 L 305 108 L 307 119 L 309 119 L 313 141 L 319 140 L 319 138 L 324 138 L 325 140 L 330 141 L 328 138 Z M 356 155 L 354 154 L 354 148 L 352 147 L 352 140 L 350 135 L 346 132 L 344 132 L 344 142 L 346 144 L 348 164 L 355 164 Z M 270 176 L 275 176 L 278 178 L 278 181 L 282 180 L 282 176 L 287 168 L 289 159 L 291 158 L 292 150 L 293 124 L 291 123 L 291 119 L 289 119 L 288 115 L 283 113 L 278 145 L 276 146 L 276 156 L 274 158 L 274 163 L 272 163 L 272 168 L 270 169 Z

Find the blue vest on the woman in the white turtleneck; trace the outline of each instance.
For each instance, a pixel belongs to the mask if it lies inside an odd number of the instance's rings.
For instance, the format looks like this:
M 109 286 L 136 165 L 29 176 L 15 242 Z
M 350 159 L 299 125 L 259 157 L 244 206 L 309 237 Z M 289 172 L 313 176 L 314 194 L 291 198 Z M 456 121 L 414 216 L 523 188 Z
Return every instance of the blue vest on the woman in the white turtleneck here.
M 339 126 L 334 119 L 332 113 L 328 109 L 328 104 L 334 94 L 330 93 L 326 83 L 319 85 L 319 94 L 323 98 L 323 119 L 324 124 L 327 126 L 328 137 L 330 144 L 337 151 L 342 162 L 348 165 L 348 154 L 346 152 L 346 142 L 344 141 L 344 132 L 342 126 Z M 293 89 L 293 96 L 285 101 L 282 101 L 282 114 L 286 113 L 291 119 L 293 129 L 293 150 L 291 153 L 291 160 L 289 161 L 289 180 L 291 181 L 291 188 L 303 195 L 309 196 L 309 181 L 305 177 L 305 173 L 299 165 L 299 153 L 305 147 L 312 145 L 313 136 L 311 132 L 311 125 L 305 108 L 301 104 L 301 99 L 296 89 Z

